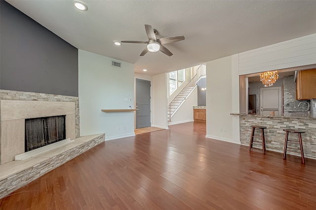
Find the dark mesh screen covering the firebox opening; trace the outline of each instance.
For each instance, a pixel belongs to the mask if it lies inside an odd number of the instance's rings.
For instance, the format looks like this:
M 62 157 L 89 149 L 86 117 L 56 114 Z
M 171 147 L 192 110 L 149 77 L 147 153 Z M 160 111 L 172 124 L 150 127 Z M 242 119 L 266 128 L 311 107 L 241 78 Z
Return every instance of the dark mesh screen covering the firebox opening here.
M 66 139 L 66 116 L 25 119 L 25 151 Z

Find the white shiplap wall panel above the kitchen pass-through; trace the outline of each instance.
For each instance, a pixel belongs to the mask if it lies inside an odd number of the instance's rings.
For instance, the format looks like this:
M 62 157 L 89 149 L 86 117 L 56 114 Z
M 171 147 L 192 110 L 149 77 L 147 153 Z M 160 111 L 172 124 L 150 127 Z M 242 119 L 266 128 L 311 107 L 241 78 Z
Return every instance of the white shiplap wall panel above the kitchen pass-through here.
M 239 75 L 316 63 L 316 33 L 239 53 Z

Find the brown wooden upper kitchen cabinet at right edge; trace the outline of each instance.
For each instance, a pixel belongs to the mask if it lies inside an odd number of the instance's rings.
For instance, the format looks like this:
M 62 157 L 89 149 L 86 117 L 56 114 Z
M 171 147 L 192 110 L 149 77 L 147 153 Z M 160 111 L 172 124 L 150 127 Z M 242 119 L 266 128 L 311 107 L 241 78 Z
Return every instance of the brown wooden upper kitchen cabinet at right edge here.
M 296 80 L 296 100 L 316 98 L 316 68 L 299 71 Z

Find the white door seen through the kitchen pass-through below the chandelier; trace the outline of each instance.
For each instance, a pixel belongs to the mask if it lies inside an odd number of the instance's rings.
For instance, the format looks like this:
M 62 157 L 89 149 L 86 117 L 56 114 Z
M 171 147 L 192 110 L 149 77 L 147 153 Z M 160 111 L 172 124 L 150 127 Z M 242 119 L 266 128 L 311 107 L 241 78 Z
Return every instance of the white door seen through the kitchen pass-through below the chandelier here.
M 260 89 L 260 115 L 270 115 L 275 111 L 276 116 L 282 114 L 282 94 L 281 87 Z

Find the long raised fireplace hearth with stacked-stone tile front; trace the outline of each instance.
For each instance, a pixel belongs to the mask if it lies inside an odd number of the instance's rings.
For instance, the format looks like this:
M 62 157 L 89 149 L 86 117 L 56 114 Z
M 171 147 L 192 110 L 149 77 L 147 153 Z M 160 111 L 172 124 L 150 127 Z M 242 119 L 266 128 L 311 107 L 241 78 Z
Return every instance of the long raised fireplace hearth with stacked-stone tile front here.
M 0 198 L 105 141 L 105 134 L 83 136 L 22 161 L 0 165 Z

